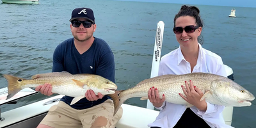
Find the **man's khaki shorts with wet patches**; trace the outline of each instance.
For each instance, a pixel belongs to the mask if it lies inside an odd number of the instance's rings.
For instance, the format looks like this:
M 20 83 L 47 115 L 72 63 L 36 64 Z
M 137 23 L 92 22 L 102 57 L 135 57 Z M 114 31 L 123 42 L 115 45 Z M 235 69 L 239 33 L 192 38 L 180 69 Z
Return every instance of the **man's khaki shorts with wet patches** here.
M 115 116 L 113 100 L 88 109 L 74 109 L 63 101 L 52 106 L 40 124 L 54 128 L 114 128 L 123 115 L 118 109 Z

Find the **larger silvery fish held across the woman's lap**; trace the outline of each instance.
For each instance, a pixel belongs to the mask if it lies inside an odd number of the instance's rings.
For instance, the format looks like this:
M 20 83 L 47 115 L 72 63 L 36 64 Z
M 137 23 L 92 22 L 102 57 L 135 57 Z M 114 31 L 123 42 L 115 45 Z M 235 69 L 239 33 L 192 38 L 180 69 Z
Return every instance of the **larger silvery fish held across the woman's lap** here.
M 153 86 L 159 91 L 160 98 L 163 98 L 163 94 L 165 95 L 167 102 L 191 107 L 192 105 L 179 95 L 179 93 L 184 95 L 181 85 L 186 88 L 185 81 L 189 83 L 189 80 L 204 93 L 200 100 L 205 99 L 211 104 L 237 107 L 251 106 L 251 101 L 255 99 L 252 93 L 227 77 L 202 72 L 183 75 L 169 74 L 145 79 L 127 90 L 116 90 L 116 93 L 111 95 L 115 103 L 115 113 L 127 99 L 132 97 L 148 99 L 148 90 Z

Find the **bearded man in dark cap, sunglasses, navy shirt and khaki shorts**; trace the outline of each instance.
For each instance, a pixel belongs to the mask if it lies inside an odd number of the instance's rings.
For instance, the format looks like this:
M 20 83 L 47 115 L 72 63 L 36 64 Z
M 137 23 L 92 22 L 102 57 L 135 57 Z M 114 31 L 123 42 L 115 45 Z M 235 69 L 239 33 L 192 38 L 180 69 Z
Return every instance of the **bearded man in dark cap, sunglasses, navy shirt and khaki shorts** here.
M 93 10 L 76 8 L 70 19 L 74 38 L 69 38 L 56 47 L 53 54 L 52 72 L 67 71 L 70 74 L 97 74 L 115 83 L 113 52 L 102 39 L 93 36 L 96 24 Z M 52 95 L 51 83 L 38 86 L 36 91 Z M 64 96 L 52 106 L 38 128 L 115 127 L 122 117 L 122 109 L 113 116 L 113 100 L 107 95 L 88 90 L 86 98 L 70 106 L 74 97 Z

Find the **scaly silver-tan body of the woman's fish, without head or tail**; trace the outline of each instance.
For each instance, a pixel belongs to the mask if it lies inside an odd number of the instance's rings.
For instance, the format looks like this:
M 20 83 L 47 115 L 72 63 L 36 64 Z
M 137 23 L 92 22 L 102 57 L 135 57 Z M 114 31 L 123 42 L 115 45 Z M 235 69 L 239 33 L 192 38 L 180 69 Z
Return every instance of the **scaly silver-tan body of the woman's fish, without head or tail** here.
M 221 79 L 221 77 L 219 78 Z M 181 85 L 185 86 L 185 81 L 191 80 L 193 81 L 194 86 L 200 88 L 200 90 L 205 93 L 205 90 L 210 89 L 211 83 L 209 83 L 209 81 L 212 79 L 218 79 L 218 76 L 209 76 L 205 78 L 204 74 L 191 74 L 190 76 L 167 75 L 163 77 L 154 77 L 152 79 L 141 81 L 136 86 L 134 86 L 134 88 L 129 89 L 129 91 L 122 92 L 120 99 L 122 97 L 125 99 L 125 96 L 127 96 L 129 92 L 132 92 L 129 94 L 132 95 L 132 97 L 147 97 L 147 91 L 149 88 L 154 86 L 154 88 L 157 88 L 159 91 L 159 97 L 163 98 L 164 94 L 167 102 L 187 104 L 187 102 L 183 100 L 179 95 L 179 93 L 184 95 Z

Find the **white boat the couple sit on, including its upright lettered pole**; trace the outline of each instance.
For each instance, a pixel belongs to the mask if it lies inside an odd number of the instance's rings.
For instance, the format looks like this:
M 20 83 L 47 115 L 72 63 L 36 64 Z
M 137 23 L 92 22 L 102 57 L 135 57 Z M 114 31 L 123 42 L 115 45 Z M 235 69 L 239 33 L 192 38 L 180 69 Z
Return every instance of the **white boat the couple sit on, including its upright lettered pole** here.
M 159 61 L 161 58 L 161 48 L 163 44 L 163 29 L 164 22 L 159 21 L 157 24 L 156 40 L 154 45 L 151 76 L 157 76 Z M 232 68 L 225 65 L 225 70 L 228 74 L 228 78 L 234 80 L 234 74 Z M 8 95 L 6 88 L 0 89 L 0 99 L 5 99 Z M 18 99 L 33 95 L 35 90 L 31 88 L 25 88 L 8 100 L 0 100 L 0 107 L 3 104 L 15 104 L 19 102 Z M 0 127 L 2 128 L 35 128 L 41 120 L 47 115 L 49 108 L 58 104 L 63 95 L 56 95 L 44 100 L 39 100 L 26 106 L 21 106 L 9 111 L 1 113 L 0 109 Z M 18 100 L 18 101 L 17 101 Z M 132 106 L 129 104 L 122 104 L 123 116 L 116 124 L 116 128 L 148 128 L 148 124 L 154 122 L 159 111 L 154 110 L 154 106 L 150 102 L 147 102 L 147 108 L 141 108 L 138 106 Z M 131 112 L 132 111 L 132 112 Z M 233 107 L 226 107 L 223 110 L 223 118 L 225 124 L 231 125 L 232 123 Z

